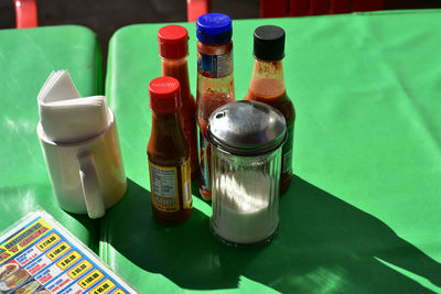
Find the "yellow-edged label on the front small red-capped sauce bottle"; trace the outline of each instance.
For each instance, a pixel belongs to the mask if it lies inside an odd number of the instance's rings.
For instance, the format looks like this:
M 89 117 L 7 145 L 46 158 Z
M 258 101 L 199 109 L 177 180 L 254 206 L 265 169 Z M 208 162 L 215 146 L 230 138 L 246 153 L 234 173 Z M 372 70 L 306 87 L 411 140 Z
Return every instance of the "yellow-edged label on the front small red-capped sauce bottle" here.
M 149 161 L 149 170 L 152 204 L 158 210 L 179 211 L 180 189 L 183 196 L 183 209 L 192 207 L 190 160 L 178 167 L 164 167 Z M 181 183 L 179 183 L 178 173 L 181 174 Z

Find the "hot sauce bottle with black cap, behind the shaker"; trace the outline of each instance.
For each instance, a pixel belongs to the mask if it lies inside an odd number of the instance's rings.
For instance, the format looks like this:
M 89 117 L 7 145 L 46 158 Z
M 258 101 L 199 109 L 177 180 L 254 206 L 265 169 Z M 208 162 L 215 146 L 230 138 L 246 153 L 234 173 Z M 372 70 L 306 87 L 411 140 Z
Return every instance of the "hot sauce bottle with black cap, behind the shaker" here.
M 282 148 L 280 193 L 288 189 L 292 179 L 292 143 L 295 111 L 287 96 L 282 58 L 284 31 L 276 25 L 262 25 L 254 34 L 255 65 L 246 100 L 257 100 L 277 108 L 287 121 L 288 137 Z

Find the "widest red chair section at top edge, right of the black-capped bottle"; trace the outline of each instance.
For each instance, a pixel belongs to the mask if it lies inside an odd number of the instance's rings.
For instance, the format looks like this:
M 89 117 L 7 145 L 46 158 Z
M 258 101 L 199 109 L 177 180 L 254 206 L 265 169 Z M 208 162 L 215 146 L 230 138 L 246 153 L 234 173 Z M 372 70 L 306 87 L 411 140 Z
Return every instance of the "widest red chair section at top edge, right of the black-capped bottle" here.
M 260 18 L 383 10 L 384 0 L 260 0 Z

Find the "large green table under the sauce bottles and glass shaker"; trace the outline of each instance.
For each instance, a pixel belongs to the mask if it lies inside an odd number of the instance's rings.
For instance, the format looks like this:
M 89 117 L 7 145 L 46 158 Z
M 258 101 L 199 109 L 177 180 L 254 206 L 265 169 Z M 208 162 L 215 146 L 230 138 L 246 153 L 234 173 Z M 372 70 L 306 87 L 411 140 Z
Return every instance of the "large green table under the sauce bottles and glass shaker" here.
M 101 258 L 141 293 L 441 293 L 440 20 L 422 10 L 234 21 L 237 99 L 251 75 L 254 29 L 277 24 L 298 113 L 279 235 L 254 249 L 215 240 L 197 193 L 185 224 L 153 220 L 148 83 L 161 74 L 163 24 L 119 30 L 106 95 L 129 188 L 101 220 Z M 194 94 L 195 24 L 182 25 Z

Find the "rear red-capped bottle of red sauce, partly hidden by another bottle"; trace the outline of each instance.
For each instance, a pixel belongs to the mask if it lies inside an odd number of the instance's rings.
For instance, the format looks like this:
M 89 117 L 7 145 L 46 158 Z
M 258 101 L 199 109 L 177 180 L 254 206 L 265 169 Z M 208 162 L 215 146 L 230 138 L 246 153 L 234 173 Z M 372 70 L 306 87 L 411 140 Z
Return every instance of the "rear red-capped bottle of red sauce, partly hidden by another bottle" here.
M 162 76 L 171 76 L 181 84 L 181 108 L 179 110 L 185 138 L 190 144 L 190 166 L 192 179 L 200 172 L 196 131 L 196 102 L 190 92 L 189 32 L 181 25 L 165 25 L 158 31 L 159 55 Z

